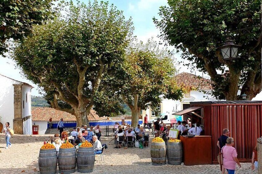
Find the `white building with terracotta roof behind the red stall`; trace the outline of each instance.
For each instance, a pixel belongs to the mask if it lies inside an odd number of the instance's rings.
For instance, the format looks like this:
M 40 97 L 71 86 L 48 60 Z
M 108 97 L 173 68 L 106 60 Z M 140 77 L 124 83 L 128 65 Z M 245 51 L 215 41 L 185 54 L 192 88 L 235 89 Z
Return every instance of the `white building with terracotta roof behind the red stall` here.
M 211 80 L 186 72 L 176 75 L 175 79 L 178 86 L 186 87 L 189 91 L 184 94 L 184 98 L 181 101 L 162 99 L 162 102 L 158 106 L 158 113 L 174 113 L 183 110 L 190 107 L 189 102 L 216 100 L 210 94 L 212 91 Z M 155 118 L 155 112 L 151 108 L 143 110 L 142 114 L 143 118 L 146 114 L 149 116 L 149 119 Z

